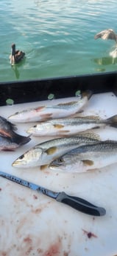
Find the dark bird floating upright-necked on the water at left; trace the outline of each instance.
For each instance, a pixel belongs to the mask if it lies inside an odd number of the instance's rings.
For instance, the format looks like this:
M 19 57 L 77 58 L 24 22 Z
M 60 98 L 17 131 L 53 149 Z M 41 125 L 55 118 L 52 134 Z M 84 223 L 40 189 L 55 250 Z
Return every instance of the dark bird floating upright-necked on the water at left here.
M 10 64 L 14 65 L 24 59 L 25 53 L 22 50 L 15 50 L 15 44 L 11 46 Z

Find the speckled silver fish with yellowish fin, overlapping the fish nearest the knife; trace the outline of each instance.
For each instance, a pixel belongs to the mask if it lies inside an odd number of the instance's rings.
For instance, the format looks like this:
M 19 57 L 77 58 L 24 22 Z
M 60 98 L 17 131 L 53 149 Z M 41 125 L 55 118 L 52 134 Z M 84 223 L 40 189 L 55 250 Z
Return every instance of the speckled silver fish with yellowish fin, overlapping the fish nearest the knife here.
M 57 157 L 77 148 L 79 145 L 97 143 L 100 137 L 93 133 L 80 134 L 76 137 L 60 137 L 53 140 L 41 142 L 30 148 L 13 162 L 15 168 L 31 168 L 40 166 L 41 169 Z

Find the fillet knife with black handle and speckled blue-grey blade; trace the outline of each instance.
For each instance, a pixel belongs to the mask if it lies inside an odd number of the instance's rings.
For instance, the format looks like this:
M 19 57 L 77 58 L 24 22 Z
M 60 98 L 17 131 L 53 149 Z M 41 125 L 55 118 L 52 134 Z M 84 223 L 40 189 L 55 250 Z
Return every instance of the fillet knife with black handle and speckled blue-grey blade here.
M 0 177 L 3 177 L 7 180 L 11 180 L 14 183 L 18 183 L 21 186 L 25 186 L 26 188 L 31 188 L 34 191 L 40 192 L 41 194 L 45 194 L 48 197 L 57 200 L 60 203 L 65 203 L 72 208 L 82 211 L 85 214 L 90 214 L 93 216 L 103 216 L 106 214 L 106 210 L 99 206 L 94 206 L 92 203 L 89 203 L 87 200 L 84 200 L 80 197 L 70 196 L 65 194 L 64 191 L 62 192 L 54 192 L 42 186 L 38 186 L 34 183 L 31 183 L 26 180 L 22 180 L 20 177 L 16 177 L 13 174 L 7 174 L 4 171 L 0 171 Z

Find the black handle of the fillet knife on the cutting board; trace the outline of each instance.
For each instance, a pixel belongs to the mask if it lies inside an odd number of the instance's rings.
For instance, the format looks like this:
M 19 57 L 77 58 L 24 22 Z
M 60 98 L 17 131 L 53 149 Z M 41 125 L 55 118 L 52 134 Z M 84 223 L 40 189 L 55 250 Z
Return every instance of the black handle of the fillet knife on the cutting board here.
M 60 203 L 65 203 L 78 211 L 82 211 L 85 214 L 93 216 L 103 216 L 106 214 L 104 208 L 94 206 L 92 203 L 89 203 L 82 198 L 69 196 L 68 194 L 65 194 L 65 192 L 60 192 L 56 200 Z

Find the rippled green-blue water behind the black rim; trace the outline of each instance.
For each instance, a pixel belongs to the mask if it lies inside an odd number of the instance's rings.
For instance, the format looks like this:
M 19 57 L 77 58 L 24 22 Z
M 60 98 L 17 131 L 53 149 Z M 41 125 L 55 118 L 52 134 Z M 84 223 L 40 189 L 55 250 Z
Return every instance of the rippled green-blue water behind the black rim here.
M 0 82 L 113 71 L 115 42 L 95 40 L 116 27 L 116 0 L 1 0 Z M 26 59 L 10 66 L 15 42 Z

